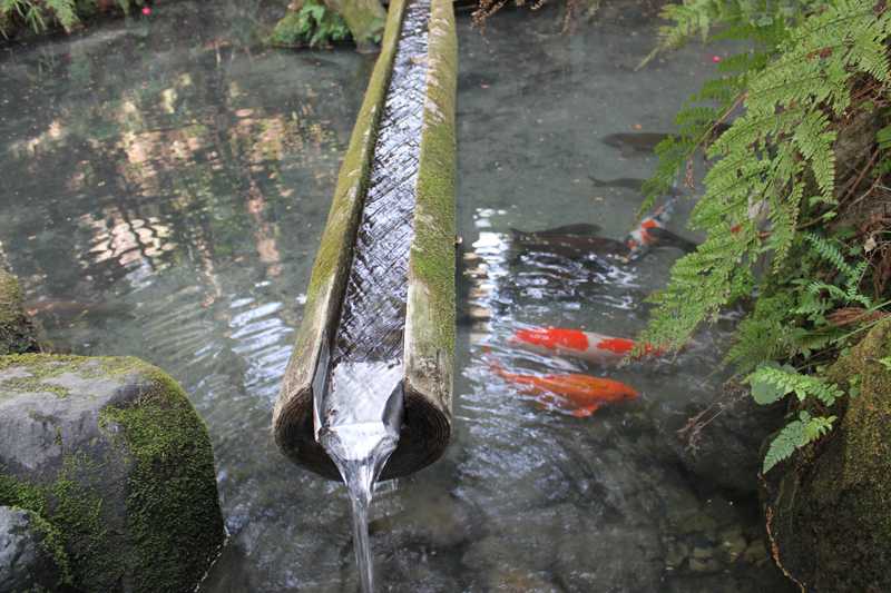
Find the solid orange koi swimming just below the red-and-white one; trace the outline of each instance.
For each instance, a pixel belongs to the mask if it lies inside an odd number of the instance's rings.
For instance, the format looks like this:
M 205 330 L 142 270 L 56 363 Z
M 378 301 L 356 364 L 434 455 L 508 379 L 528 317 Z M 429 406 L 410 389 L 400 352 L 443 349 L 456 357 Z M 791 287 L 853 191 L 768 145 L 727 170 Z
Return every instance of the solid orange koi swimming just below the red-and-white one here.
M 520 375 L 508 373 L 495 360 L 491 367 L 508 383 L 525 386 L 525 393 L 539 395 L 540 403 L 556 403 L 571 408 L 577 418 L 590 416 L 604 404 L 634 399 L 639 395 L 634 387 L 624 383 L 590 375 Z

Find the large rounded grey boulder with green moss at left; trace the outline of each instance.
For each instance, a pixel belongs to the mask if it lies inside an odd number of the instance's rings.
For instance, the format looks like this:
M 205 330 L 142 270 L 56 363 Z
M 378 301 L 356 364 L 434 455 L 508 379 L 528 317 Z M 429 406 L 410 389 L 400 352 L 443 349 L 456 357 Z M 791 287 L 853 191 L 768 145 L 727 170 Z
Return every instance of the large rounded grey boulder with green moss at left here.
M 225 535 L 204 423 L 128 357 L 0 357 L 0 505 L 58 533 L 84 592 L 193 591 Z

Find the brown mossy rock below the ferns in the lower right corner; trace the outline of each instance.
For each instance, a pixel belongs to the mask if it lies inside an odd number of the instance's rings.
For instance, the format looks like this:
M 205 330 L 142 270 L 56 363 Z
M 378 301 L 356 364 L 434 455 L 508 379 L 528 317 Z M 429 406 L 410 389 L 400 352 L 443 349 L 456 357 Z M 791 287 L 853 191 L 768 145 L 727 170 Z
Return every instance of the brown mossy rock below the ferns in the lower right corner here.
M 849 393 L 834 431 L 767 474 L 780 564 L 806 591 L 891 591 L 891 320 L 829 372 Z

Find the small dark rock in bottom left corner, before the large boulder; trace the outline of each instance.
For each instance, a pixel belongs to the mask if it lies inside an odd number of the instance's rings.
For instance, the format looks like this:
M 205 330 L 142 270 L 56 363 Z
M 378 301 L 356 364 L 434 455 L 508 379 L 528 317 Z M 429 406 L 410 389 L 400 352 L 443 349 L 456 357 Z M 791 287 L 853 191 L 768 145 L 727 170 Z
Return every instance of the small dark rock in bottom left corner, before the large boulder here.
M 59 534 L 36 513 L 0 506 L 0 591 L 65 591 L 70 579 Z

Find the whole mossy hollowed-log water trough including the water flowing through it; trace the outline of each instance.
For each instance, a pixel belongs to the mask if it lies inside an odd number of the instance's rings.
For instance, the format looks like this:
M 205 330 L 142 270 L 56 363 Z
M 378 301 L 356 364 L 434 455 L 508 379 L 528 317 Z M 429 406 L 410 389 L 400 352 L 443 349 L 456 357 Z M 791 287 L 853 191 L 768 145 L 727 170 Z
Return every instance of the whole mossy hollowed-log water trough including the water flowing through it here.
M 273 412 L 282 452 L 343 480 L 364 591 L 373 484 L 451 435 L 454 88 L 450 0 L 393 0 Z

